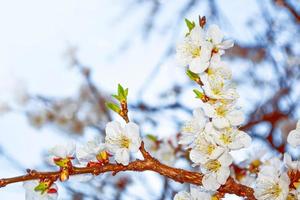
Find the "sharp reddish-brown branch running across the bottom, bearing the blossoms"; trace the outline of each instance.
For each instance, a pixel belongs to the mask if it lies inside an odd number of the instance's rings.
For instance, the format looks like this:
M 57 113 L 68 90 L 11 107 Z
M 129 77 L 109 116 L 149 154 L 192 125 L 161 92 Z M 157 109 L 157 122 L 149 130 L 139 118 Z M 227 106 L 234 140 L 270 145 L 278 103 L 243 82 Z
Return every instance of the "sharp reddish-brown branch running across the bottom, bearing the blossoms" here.
M 104 166 L 92 166 L 92 167 L 74 167 L 70 171 L 70 175 L 79 174 L 93 174 L 99 175 L 105 172 L 112 172 L 116 175 L 121 171 L 153 171 L 160 175 L 170 178 L 176 182 L 189 183 L 194 185 L 202 185 L 203 174 L 199 172 L 187 171 L 184 169 L 173 168 L 160 163 L 157 159 L 153 158 L 144 148 L 142 143 L 140 151 L 144 156 L 144 160 L 136 160 L 129 165 L 124 166 L 121 164 L 106 164 Z M 0 179 L 0 187 L 4 187 L 8 184 L 29 181 L 29 180 L 39 180 L 39 179 L 50 179 L 56 181 L 59 179 L 60 171 L 56 172 L 37 172 L 34 170 L 28 170 L 28 174 L 24 176 L 18 176 L 13 178 Z M 238 196 L 246 197 L 249 200 L 255 200 L 253 195 L 253 189 L 244 185 L 241 185 L 229 177 L 225 185 L 221 186 L 218 190 L 220 193 L 230 193 L 236 194 Z

